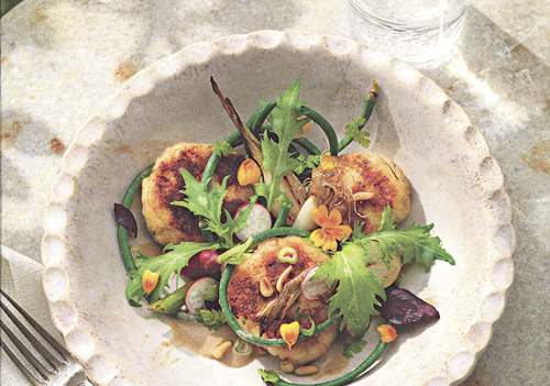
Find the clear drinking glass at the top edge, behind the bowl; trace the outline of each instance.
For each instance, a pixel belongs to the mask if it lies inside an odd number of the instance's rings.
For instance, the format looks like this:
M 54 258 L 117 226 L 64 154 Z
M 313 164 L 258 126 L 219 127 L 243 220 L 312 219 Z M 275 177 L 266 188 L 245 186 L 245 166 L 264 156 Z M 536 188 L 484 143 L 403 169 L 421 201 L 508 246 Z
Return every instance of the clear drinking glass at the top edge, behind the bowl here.
M 416 66 L 440 63 L 460 40 L 468 0 L 349 0 L 356 38 Z

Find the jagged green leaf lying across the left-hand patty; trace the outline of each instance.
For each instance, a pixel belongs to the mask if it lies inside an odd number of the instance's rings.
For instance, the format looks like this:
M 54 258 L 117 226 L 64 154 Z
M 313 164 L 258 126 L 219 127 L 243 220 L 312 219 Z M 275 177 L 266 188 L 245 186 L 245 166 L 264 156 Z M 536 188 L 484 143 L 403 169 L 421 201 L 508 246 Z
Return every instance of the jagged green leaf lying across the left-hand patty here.
M 249 227 L 246 220 L 252 211 L 254 200 L 251 200 L 251 203 L 241 210 L 235 219 L 226 210 L 226 222 L 221 222 L 221 207 L 228 192 L 229 176 L 223 178 L 220 187 L 210 190 L 209 180 L 198 181 L 188 170 L 182 168 L 180 172 L 185 181 L 185 189 L 180 192 L 187 198 L 184 201 L 173 201 L 172 205 L 185 207 L 194 214 L 205 218 L 205 229 L 212 231 L 220 238 L 221 247 L 232 247 L 234 245 L 233 233 L 241 228 Z

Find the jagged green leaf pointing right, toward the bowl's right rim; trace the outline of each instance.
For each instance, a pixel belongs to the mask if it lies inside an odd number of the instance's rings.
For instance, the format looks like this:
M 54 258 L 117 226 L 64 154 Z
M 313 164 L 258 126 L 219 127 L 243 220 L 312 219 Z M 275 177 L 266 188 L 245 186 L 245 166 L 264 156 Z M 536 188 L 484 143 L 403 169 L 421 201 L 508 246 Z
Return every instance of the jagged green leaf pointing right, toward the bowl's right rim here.
M 400 255 L 404 264 L 413 260 L 422 263 L 428 272 L 436 260 L 454 265 L 454 258 L 441 246 L 441 239 L 431 236 L 433 224 L 415 225 L 405 229 L 396 229 L 395 219 L 392 218 L 392 209 L 386 207 L 382 214 L 382 223 L 378 230 L 369 235 L 354 232 L 352 242 L 361 244 L 366 251 L 376 242 L 382 261 L 389 265 L 392 255 Z

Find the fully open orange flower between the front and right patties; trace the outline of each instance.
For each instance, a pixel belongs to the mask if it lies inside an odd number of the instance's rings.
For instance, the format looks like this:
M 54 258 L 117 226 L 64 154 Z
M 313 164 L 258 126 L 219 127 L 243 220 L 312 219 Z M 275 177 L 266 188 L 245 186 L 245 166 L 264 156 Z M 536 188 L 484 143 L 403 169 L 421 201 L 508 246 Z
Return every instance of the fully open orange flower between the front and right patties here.
M 338 241 L 348 239 L 352 230 L 348 225 L 340 225 L 342 222 L 342 214 L 338 209 L 329 210 L 324 205 L 311 210 L 311 218 L 321 229 L 315 230 L 310 235 L 311 240 L 317 247 L 322 247 L 324 251 L 336 252 L 338 249 Z

